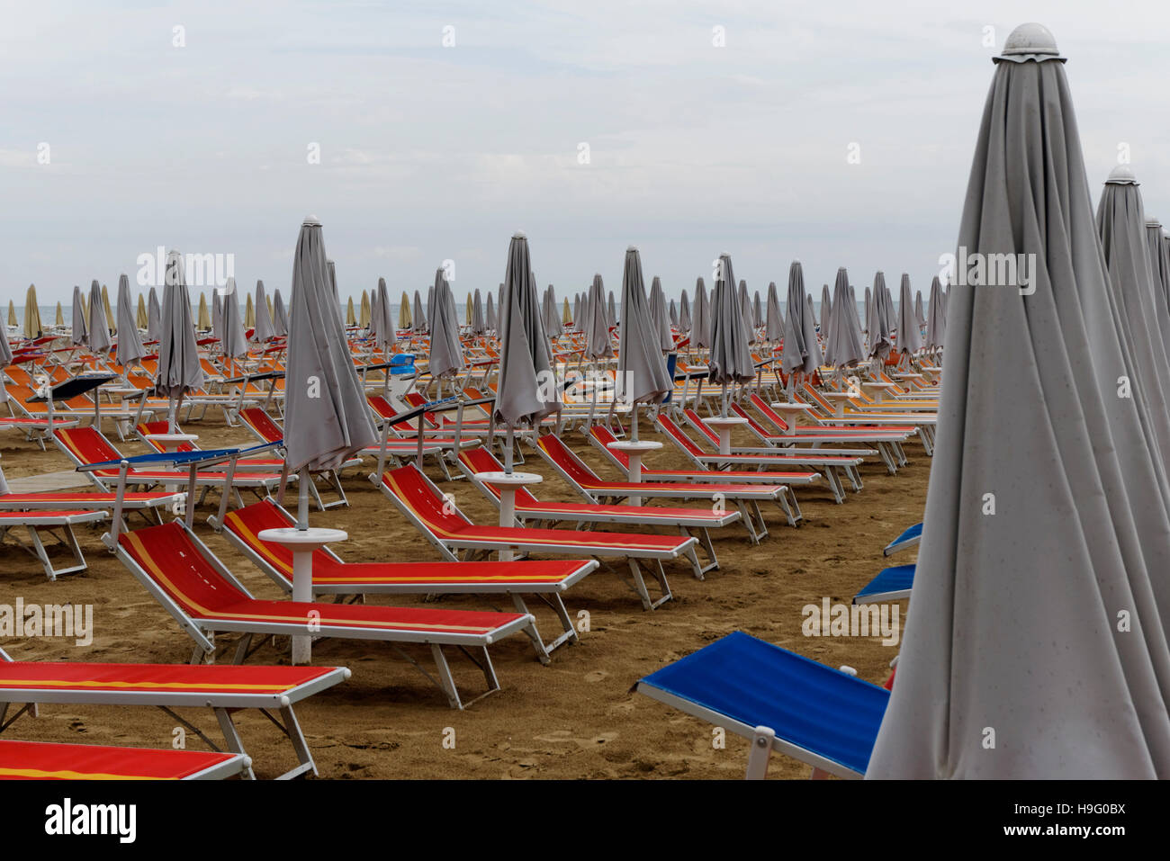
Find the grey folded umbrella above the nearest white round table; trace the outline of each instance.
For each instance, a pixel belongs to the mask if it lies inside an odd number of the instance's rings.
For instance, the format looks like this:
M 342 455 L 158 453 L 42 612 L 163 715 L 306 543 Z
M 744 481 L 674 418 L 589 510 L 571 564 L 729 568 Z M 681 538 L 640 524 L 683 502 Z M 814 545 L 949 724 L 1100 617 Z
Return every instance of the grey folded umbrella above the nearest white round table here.
M 333 295 L 321 222 L 305 219 L 292 259 L 284 448 L 290 470 L 337 469 L 377 442 Z M 302 495 L 308 482 L 301 481 Z M 298 523 L 300 528 L 308 524 Z

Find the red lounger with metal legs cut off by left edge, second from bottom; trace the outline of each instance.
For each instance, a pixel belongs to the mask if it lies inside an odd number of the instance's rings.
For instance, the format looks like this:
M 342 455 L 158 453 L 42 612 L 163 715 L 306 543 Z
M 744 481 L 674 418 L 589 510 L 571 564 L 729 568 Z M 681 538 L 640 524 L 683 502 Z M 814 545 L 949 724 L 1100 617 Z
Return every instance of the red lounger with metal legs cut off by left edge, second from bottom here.
M 0 659 L 4 653 L 0 652 Z M 300 764 L 281 776 L 317 773 L 309 745 L 292 711 L 294 704 L 350 677 L 344 667 L 233 667 L 170 663 L 88 663 L 84 661 L 0 660 L 0 732 L 30 703 L 69 705 L 152 705 L 219 748 L 174 709 L 212 709 L 232 753 L 246 753 L 232 716 L 239 709 L 260 709 L 296 750 Z M 25 703 L 12 717 L 9 707 Z M 274 716 L 280 714 L 280 719 Z M 245 776 L 255 777 L 250 767 Z

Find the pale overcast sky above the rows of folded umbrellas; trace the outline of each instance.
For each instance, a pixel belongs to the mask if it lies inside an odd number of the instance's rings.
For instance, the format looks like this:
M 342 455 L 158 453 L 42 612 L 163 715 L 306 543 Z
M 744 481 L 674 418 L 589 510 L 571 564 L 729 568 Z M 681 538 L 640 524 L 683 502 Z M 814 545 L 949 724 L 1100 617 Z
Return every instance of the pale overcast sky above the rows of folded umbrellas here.
M 1123 14 L 1122 14 L 1123 12 Z M 927 291 L 954 252 L 991 57 L 1039 21 L 1094 195 L 1119 158 L 1170 221 L 1170 5 L 1099 2 L 0 4 L 0 301 L 136 282 L 158 246 L 287 294 L 309 214 L 339 291 L 453 261 L 495 288 L 512 233 L 558 297 L 668 296 L 731 254 Z M 319 158 L 314 158 L 319 153 Z

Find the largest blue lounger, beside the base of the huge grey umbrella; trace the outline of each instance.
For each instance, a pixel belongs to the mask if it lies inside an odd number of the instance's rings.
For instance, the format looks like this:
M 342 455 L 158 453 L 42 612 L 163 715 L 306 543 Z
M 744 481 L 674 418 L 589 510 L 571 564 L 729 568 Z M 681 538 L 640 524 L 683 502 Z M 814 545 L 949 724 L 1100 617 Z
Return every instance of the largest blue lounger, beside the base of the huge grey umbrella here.
M 652 673 L 638 691 L 751 739 L 748 778 L 771 751 L 860 778 L 889 691 L 742 632 Z

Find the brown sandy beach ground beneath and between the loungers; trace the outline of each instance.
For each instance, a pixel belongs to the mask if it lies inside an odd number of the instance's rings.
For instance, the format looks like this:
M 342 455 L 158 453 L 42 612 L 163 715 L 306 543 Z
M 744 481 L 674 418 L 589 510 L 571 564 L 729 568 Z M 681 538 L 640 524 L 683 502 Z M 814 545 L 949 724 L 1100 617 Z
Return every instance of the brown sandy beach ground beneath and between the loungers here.
M 185 429 L 200 435 L 202 447 L 246 443 L 242 428 L 221 419 L 191 422 Z M 646 426 L 647 434 L 652 434 Z M 617 471 L 601 462 L 579 433 L 566 439 L 601 474 Z M 737 445 L 751 445 L 746 436 Z M 145 453 L 137 442 L 124 453 Z M 0 440 L 2 464 L 9 478 L 70 469 L 54 449 L 39 452 L 14 434 Z M 297 707 L 321 778 L 742 778 L 746 741 L 727 736 L 723 749 L 713 744 L 709 724 L 631 691 L 639 679 L 732 632 L 744 631 L 831 666 L 848 664 L 861 679 L 881 684 L 889 675 L 896 646 L 879 638 L 807 638 L 801 633 L 801 607 L 848 604 L 854 592 L 882 567 L 913 562 L 914 553 L 893 560 L 882 547 L 906 526 L 921 519 L 930 459 L 920 445 L 907 448 L 909 463 L 897 475 L 867 460 L 861 473 L 865 490 L 851 493 L 835 505 L 824 485 L 798 490 L 805 521 L 787 526 L 778 511 L 765 512 L 770 535 L 758 546 L 741 529 L 715 536 L 721 567 L 696 580 L 680 564 L 667 567 L 675 600 L 644 612 L 634 593 L 604 566 L 572 588 L 565 604 L 574 617 L 589 613 L 589 631 L 580 643 L 556 650 L 548 667 L 536 661 L 522 636 L 493 647 L 493 660 L 503 689 L 463 711 L 447 707 L 442 694 L 390 647 L 357 641 L 323 641 L 314 648 L 314 663 L 344 666 L 352 679 L 310 697 Z M 652 466 L 684 468 L 669 449 Z M 347 562 L 435 560 L 438 553 L 369 482 L 373 468 L 344 476 L 351 508 L 314 511 L 312 525 L 349 531 L 350 540 L 333 549 Z M 524 469 L 544 476 L 541 498 L 573 502 L 565 485 L 541 459 L 526 453 Z M 436 481 L 441 477 L 431 470 Z M 490 523 L 495 509 L 467 481 L 440 483 L 476 522 Z M 271 580 L 233 550 L 205 519 L 214 512 L 215 497 L 197 511 L 197 531 L 220 555 L 254 595 L 278 599 Z M 140 519 L 131 526 L 142 525 Z M 620 528 L 619 528 L 620 529 Z M 0 641 L 18 660 L 85 660 L 115 662 L 184 662 L 191 641 L 167 613 L 101 544 L 101 529 L 80 530 L 89 570 L 49 583 L 36 562 L 8 538 L 0 547 L 0 602 L 18 598 L 39 604 L 94 605 L 94 641 L 78 647 L 70 640 Z M 51 551 L 50 551 L 51 552 Z M 374 597 L 373 604 L 411 605 L 420 598 Z M 445 598 L 445 606 L 483 609 L 487 599 Z M 531 601 L 542 633 L 551 636 L 551 611 Z M 497 601 L 510 609 L 507 600 Z M 906 602 L 901 604 L 904 625 Z M 221 638 L 228 642 L 230 638 Z M 269 641 L 250 663 L 287 663 L 288 641 Z M 426 649 L 410 653 L 424 666 Z M 230 660 L 221 647 L 220 660 Z M 468 696 L 483 690 L 483 677 L 470 662 L 453 660 L 456 682 Z M 213 739 L 219 730 L 209 711 L 185 710 L 184 716 Z M 275 777 L 295 763 L 291 746 L 255 711 L 236 722 L 257 777 Z M 163 711 L 145 708 L 48 705 L 36 719 L 20 718 L 20 737 L 29 741 L 87 744 L 170 746 L 176 722 Z M 452 730 L 454 732 L 452 732 Z M 204 743 L 188 733 L 188 748 Z M 452 739 L 454 745 L 452 746 Z M 808 767 L 777 756 L 769 776 L 805 778 Z

